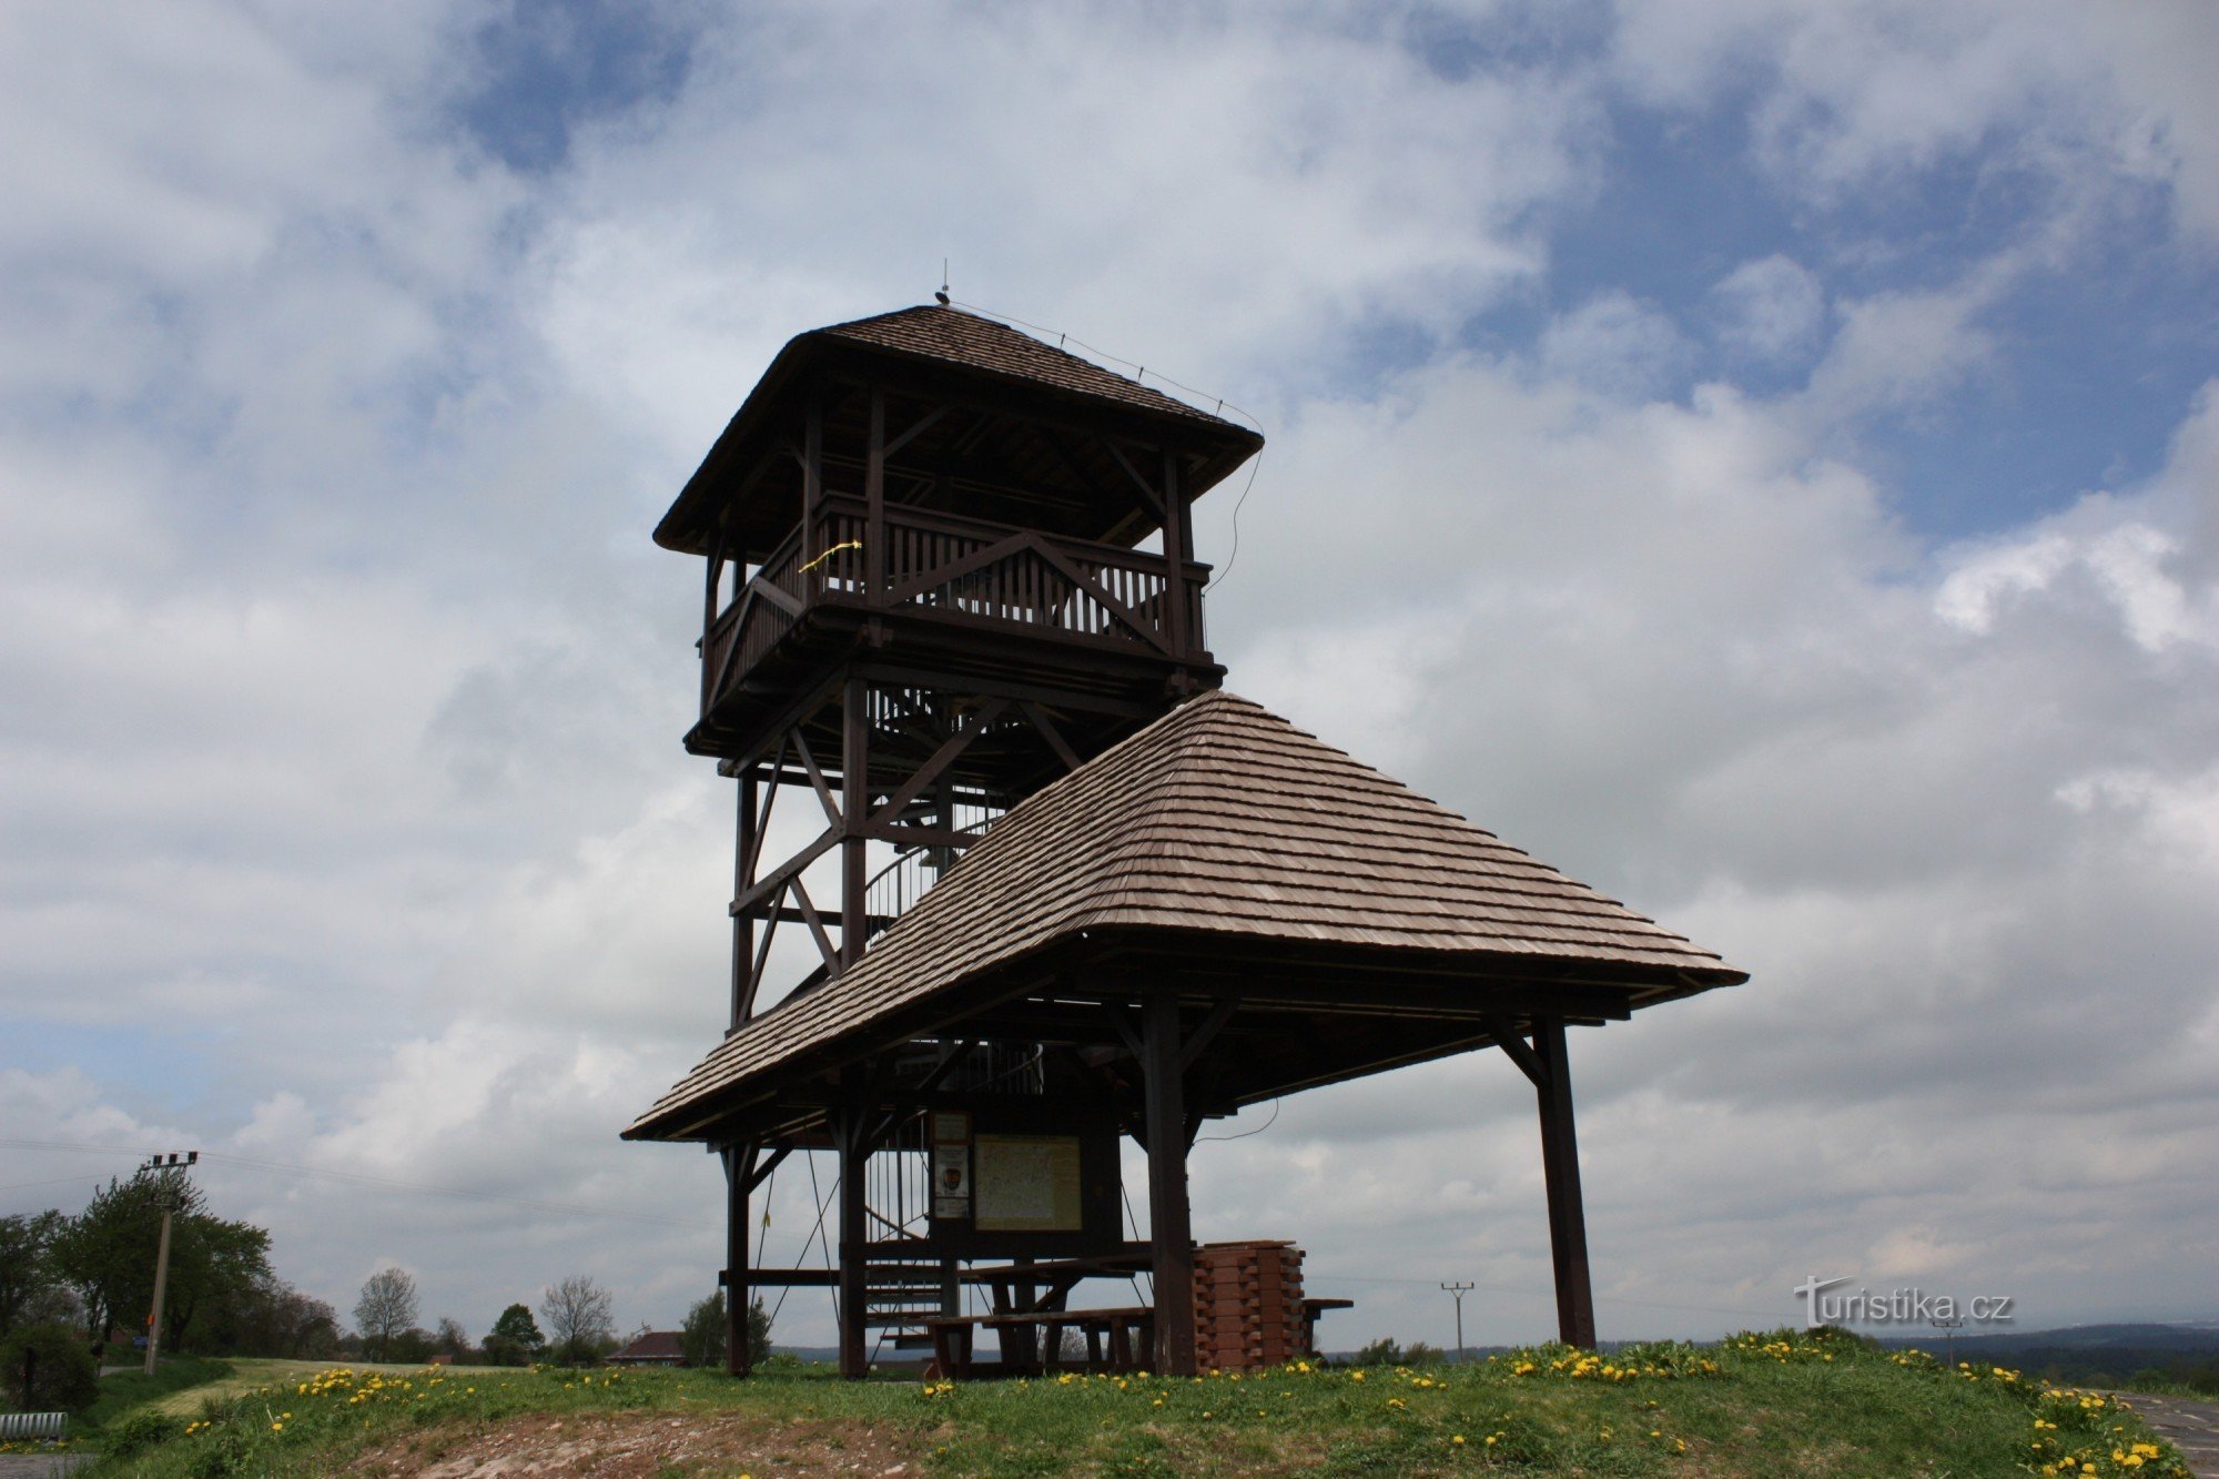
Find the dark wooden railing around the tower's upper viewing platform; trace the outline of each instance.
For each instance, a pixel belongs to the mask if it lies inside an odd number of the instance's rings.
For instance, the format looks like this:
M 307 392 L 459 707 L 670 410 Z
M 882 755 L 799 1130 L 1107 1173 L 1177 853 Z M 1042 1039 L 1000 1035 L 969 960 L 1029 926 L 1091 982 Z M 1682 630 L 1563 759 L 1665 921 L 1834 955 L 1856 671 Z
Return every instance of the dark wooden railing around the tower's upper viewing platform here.
M 888 509 L 885 588 L 874 593 L 868 535 L 870 517 L 859 500 L 825 500 L 812 526 L 797 529 L 734 593 L 701 640 L 703 713 L 734 677 L 770 655 L 803 611 L 825 604 L 934 613 L 1165 657 L 1203 651 L 1207 566 L 1187 566 L 1185 588 L 1174 593 L 1161 555 L 923 509 Z M 1176 628 L 1167 620 L 1172 602 L 1185 617 Z

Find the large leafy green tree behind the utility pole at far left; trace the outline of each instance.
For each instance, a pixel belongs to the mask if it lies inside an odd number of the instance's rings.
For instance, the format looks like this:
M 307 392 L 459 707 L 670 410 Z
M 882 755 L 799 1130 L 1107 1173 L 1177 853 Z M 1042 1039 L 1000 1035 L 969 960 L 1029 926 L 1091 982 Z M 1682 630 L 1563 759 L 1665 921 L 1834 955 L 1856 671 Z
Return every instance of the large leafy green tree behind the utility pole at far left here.
M 144 1328 L 164 1199 L 173 1199 L 162 1332 L 169 1350 L 184 1348 L 195 1317 L 244 1299 L 268 1275 L 271 1235 L 213 1217 L 186 1177 L 111 1177 L 49 1244 L 53 1272 L 78 1297 L 89 1339 L 104 1339 L 111 1326 Z

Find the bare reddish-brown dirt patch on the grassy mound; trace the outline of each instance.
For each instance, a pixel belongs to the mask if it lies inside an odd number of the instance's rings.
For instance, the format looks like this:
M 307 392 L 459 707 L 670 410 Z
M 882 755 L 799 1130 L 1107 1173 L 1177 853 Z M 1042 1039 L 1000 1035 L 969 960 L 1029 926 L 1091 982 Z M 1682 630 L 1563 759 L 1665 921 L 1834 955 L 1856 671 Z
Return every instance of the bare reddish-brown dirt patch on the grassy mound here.
M 885 1423 L 672 1412 L 513 1417 L 490 1428 L 428 1428 L 357 1457 L 351 1475 L 916 1475 L 925 1439 Z

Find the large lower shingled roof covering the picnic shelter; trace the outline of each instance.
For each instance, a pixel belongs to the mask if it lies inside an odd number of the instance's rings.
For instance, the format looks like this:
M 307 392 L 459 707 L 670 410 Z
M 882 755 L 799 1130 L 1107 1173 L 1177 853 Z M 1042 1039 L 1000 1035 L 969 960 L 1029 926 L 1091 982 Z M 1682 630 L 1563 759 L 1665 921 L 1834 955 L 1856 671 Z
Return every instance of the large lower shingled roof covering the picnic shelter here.
M 761 1088 L 825 1048 L 881 1046 L 912 1008 L 1083 930 L 1469 962 L 1536 982 L 1624 986 L 1629 1006 L 1746 979 L 1216 691 L 1021 802 L 845 975 L 734 1030 L 626 1137 L 683 1137 L 703 1104 Z

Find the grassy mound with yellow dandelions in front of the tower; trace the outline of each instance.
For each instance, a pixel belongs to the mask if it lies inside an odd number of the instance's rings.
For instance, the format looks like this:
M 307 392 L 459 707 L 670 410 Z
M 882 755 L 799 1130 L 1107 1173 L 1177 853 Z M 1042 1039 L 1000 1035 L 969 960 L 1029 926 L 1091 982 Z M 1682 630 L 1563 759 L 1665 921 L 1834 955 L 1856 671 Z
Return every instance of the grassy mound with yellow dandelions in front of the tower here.
M 175 1406 L 173 1399 L 162 1406 Z M 521 1468 L 739 1475 L 2186 1475 L 2112 1399 L 1782 1332 L 1609 1357 L 1538 1348 L 1460 1368 L 1280 1368 L 1172 1381 L 837 1381 L 712 1372 L 417 1370 L 235 1392 L 191 1423 L 146 1408 L 91 1472 Z M 2055 1426 L 2048 1426 L 2055 1423 Z M 2135 1443 L 2144 1443 L 2141 1450 Z M 648 1463 L 650 1468 L 639 1468 Z

